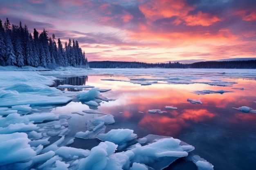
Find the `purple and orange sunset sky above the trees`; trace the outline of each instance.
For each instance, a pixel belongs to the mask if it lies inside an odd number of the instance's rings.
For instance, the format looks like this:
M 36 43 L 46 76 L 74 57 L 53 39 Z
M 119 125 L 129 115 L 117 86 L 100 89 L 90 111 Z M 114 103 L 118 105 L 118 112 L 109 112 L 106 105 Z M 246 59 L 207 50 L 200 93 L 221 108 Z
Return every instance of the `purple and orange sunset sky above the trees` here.
M 0 0 L 6 18 L 77 40 L 89 62 L 256 57 L 256 0 Z

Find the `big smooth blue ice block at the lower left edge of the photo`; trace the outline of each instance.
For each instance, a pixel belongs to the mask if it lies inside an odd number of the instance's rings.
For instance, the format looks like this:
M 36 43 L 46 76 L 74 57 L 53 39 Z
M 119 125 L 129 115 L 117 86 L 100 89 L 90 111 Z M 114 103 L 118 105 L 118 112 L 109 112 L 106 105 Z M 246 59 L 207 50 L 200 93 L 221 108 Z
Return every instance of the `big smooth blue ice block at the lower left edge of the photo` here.
M 20 161 L 29 161 L 36 156 L 30 147 L 26 133 L 0 134 L 0 166 Z

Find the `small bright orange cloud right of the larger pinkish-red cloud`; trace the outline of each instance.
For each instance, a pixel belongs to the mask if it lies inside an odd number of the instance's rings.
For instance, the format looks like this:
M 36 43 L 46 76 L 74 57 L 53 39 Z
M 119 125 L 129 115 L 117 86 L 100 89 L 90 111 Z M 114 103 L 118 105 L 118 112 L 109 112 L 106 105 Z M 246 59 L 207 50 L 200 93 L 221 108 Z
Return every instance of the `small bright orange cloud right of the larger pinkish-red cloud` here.
M 196 15 L 188 15 L 182 18 L 187 26 L 210 26 L 214 22 L 222 21 L 223 19 L 218 18 L 216 16 L 212 16 L 208 13 L 202 13 L 202 11 L 198 11 Z

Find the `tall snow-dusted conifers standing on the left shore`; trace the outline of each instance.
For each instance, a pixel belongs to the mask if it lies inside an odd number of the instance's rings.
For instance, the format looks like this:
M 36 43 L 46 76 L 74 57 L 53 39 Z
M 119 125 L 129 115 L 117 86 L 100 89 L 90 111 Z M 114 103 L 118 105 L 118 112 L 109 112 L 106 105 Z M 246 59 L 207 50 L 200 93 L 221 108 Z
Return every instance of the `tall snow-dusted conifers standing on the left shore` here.
M 2 25 L 0 20 L 0 66 L 57 66 L 88 67 L 85 52 L 77 41 L 65 42 L 63 47 L 60 38 L 56 43 L 55 35 L 48 37 L 48 31 L 38 33 L 34 29 L 33 36 L 27 26 L 11 25 L 8 18 Z

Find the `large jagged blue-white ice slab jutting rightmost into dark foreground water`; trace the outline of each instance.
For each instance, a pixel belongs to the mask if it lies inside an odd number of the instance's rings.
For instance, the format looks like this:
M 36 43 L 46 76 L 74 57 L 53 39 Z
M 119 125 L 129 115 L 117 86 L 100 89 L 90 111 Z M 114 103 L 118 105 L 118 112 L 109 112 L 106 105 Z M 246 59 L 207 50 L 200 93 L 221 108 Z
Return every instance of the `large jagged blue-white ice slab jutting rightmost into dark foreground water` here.
M 131 149 L 135 156 L 131 162 L 144 163 L 154 169 L 164 169 L 180 157 L 186 157 L 193 146 L 184 147 L 182 141 L 172 137 L 164 138 L 157 135 L 146 136 L 147 144 L 136 144 Z M 150 143 L 152 141 L 152 143 Z

